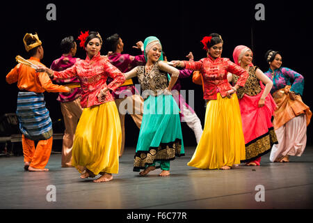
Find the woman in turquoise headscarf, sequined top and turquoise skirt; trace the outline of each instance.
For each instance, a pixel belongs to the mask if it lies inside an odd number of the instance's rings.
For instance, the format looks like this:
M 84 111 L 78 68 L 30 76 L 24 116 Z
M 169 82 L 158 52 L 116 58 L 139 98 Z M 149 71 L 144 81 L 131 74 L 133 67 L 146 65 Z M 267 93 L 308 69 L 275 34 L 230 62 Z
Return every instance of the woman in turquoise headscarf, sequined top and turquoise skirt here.
M 126 79 L 138 77 L 143 89 L 143 121 L 139 132 L 134 171 L 146 176 L 157 169 L 160 162 L 161 174 L 170 175 L 170 160 L 184 155 L 179 108 L 170 95 L 179 76 L 179 70 L 163 62 L 162 46 L 158 38 L 150 36 L 143 43 L 145 66 L 137 66 L 125 73 Z M 171 74 L 168 83 L 168 74 Z

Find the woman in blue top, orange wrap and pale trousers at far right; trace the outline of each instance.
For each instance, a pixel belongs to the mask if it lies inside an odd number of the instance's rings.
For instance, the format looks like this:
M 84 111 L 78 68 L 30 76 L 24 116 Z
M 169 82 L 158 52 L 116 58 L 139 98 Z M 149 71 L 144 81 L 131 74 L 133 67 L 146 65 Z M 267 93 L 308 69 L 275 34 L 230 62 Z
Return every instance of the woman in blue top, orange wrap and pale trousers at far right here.
M 302 155 L 307 143 L 307 125 L 312 112 L 301 99 L 304 78 L 298 72 L 282 68 L 280 52 L 268 50 L 265 55 L 270 68 L 265 75 L 273 80 L 271 93 L 278 105 L 273 126 L 278 145 L 271 151 L 271 162 L 289 162 L 289 155 Z M 291 84 L 293 83 L 293 84 Z

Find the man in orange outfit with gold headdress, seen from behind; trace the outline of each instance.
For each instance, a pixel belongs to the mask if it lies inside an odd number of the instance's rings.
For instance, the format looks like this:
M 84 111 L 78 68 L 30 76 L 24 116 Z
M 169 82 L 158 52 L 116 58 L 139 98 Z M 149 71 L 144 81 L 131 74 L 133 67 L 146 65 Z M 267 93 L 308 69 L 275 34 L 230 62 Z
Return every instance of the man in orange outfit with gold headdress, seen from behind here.
M 29 61 L 35 65 L 40 63 L 44 50 L 37 33 L 26 33 L 24 46 L 29 52 Z M 66 86 L 52 84 L 45 72 L 35 72 L 34 68 L 18 63 L 8 75 L 6 82 L 17 82 L 19 93 L 17 95 L 17 118 L 19 129 L 22 132 L 22 146 L 24 153 L 24 169 L 29 171 L 49 171 L 46 165 L 49 161 L 52 148 L 52 123 L 49 111 L 45 107 L 43 92 L 71 91 Z M 35 141 L 38 144 L 35 148 Z

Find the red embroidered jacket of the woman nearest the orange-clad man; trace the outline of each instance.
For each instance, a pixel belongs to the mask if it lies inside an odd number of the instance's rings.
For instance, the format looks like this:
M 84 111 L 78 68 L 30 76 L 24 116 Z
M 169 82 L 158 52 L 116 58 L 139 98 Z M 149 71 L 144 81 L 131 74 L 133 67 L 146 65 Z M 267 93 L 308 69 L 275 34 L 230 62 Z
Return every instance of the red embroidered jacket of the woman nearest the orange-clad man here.
M 107 87 L 109 90 L 115 91 L 125 82 L 123 73 L 115 68 L 106 56 L 100 56 L 100 52 L 91 60 L 87 56 L 85 60 L 79 59 L 71 68 L 60 72 L 54 71 L 55 80 L 75 76 L 78 77 L 81 84 L 81 107 L 83 108 L 114 101 L 109 91 L 106 91 L 106 94 L 100 99 L 97 96 L 102 89 Z M 106 85 L 108 77 L 111 77 L 113 81 Z

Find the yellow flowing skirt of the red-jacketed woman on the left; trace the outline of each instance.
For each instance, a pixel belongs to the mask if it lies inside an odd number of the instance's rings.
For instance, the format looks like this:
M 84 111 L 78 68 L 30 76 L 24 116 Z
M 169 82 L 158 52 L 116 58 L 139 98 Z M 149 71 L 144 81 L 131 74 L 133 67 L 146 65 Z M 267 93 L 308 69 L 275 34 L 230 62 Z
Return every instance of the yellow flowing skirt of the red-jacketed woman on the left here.
M 118 174 L 118 152 L 122 143 L 120 117 L 115 102 L 83 109 L 75 132 L 72 165 L 81 172 Z

